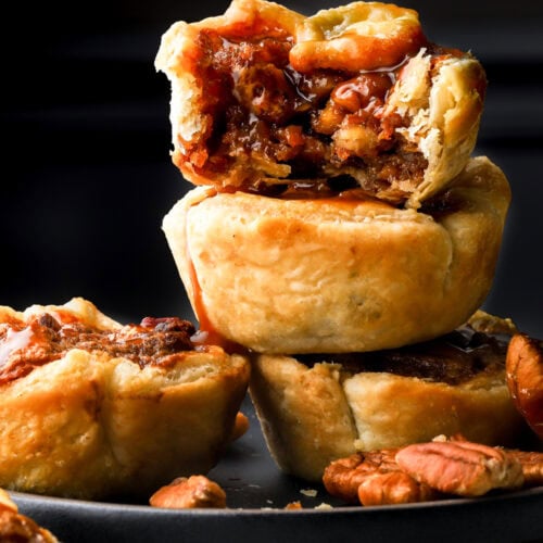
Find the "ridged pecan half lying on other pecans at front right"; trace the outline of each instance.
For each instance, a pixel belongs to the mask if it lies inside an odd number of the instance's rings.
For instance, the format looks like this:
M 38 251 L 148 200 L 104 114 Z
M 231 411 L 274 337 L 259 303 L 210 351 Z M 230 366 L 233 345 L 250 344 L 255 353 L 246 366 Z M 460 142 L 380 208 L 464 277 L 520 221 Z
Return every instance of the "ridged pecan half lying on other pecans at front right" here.
M 523 484 L 520 462 L 505 451 L 469 441 L 417 443 L 400 450 L 397 465 L 446 494 L 479 496 Z

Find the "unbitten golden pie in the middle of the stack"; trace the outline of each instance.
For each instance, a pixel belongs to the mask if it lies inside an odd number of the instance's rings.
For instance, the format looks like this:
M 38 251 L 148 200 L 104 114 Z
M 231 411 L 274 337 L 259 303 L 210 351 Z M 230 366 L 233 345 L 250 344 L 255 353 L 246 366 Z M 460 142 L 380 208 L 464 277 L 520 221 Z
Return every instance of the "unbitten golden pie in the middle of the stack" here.
M 197 188 L 163 229 L 201 324 L 262 353 L 356 352 L 460 326 L 492 283 L 510 199 L 472 159 L 422 211 Z

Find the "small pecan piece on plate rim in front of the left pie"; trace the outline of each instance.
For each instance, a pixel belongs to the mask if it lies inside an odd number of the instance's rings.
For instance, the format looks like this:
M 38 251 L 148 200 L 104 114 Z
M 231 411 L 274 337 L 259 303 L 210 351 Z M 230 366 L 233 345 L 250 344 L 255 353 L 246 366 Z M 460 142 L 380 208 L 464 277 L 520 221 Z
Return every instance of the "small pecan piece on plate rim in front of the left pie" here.
M 179 477 L 159 489 L 149 504 L 167 509 L 225 508 L 226 493 L 205 476 Z

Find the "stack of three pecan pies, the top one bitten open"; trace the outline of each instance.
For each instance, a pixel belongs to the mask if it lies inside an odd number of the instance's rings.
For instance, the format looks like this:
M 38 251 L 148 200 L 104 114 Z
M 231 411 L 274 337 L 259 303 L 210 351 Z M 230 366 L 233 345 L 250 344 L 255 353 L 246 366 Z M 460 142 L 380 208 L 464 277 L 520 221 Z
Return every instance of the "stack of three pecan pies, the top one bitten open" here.
M 476 314 L 510 201 L 471 156 L 479 61 L 393 4 L 233 0 L 175 23 L 155 63 L 197 186 L 163 228 L 201 337 L 251 355 L 278 465 L 319 480 L 357 450 L 514 440 L 514 326 Z

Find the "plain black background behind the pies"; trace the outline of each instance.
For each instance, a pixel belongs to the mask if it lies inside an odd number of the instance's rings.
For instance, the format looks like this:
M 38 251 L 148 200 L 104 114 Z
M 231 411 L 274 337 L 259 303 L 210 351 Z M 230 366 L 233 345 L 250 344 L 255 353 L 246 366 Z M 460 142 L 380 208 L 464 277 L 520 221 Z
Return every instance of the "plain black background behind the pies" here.
M 286 1 L 304 13 L 344 2 Z M 0 304 L 85 296 L 127 321 L 192 318 L 161 231 L 190 188 L 169 162 L 169 86 L 153 66 L 177 20 L 227 1 L 14 4 L 2 13 Z M 489 77 L 477 153 L 514 201 L 485 308 L 543 337 L 543 2 L 412 0 L 427 36 Z

